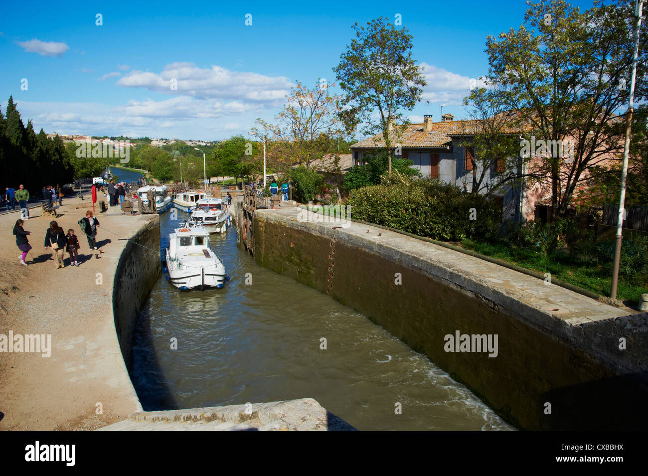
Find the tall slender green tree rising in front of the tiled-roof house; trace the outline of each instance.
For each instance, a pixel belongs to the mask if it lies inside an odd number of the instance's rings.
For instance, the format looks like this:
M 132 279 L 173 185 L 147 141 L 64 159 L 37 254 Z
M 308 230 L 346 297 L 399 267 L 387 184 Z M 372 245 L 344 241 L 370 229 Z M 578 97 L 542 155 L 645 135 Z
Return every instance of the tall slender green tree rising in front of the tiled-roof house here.
M 388 153 L 391 176 L 392 138 L 398 140 L 405 125 L 392 124 L 403 120 L 403 110 L 411 111 L 421 100 L 426 85 L 421 69 L 411 57 L 412 36 L 407 28 L 398 30 L 388 18 L 369 21 L 367 27 L 353 26 L 356 38 L 340 55 L 334 67 L 336 79 L 345 92 L 340 117 L 347 131 L 362 124 L 366 135 L 382 134 Z M 378 113 L 378 122 L 373 119 Z

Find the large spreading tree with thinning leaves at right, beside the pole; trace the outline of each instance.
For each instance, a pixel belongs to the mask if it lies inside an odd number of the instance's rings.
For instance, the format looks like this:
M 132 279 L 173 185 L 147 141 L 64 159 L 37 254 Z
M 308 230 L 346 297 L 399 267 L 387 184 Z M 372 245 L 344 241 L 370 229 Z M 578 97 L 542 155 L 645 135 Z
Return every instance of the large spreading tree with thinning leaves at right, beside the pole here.
M 529 133 L 573 153 L 541 151 L 533 174 L 551 193 L 552 216 L 564 216 L 589 170 L 623 149 L 633 51 L 632 7 L 595 1 L 586 12 L 564 0 L 529 3 L 525 25 L 489 36 L 489 82 L 510 87 L 509 104 Z M 644 27 L 645 28 L 645 27 Z M 640 54 L 646 49 L 642 32 Z M 635 99 L 646 97 L 648 65 L 637 68 Z M 533 157 L 533 153 L 531 154 Z

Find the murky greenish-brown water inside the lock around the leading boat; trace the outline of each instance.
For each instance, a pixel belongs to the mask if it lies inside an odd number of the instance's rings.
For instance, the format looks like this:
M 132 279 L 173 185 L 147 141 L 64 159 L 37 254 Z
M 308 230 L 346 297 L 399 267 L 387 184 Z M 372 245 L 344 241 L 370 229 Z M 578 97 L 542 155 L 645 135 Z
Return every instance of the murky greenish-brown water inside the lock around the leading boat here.
M 164 251 L 178 221 L 160 224 Z M 513 429 L 364 315 L 257 265 L 234 227 L 211 247 L 224 289 L 181 292 L 161 278 L 139 315 L 131 378 L 146 411 L 312 397 L 360 430 Z

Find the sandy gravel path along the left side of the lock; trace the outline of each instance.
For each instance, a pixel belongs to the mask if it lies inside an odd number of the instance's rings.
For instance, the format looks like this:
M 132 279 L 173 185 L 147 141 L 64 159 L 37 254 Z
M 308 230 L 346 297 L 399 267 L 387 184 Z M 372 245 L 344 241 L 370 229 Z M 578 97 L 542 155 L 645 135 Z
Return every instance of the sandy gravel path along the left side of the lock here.
M 97 203 L 98 205 L 98 203 Z M 59 218 L 32 209 L 23 228 L 32 250 L 19 263 L 12 234 L 20 213 L 0 216 L 0 334 L 51 334 L 50 357 L 0 353 L 0 430 L 95 429 L 140 409 L 117 343 L 112 310 L 115 268 L 127 238 L 153 216 L 123 216 L 119 207 L 99 214 L 99 251 L 88 249 L 76 223 L 89 199 L 64 200 Z M 75 229 L 80 266 L 56 269 L 43 247 L 51 220 Z M 97 273 L 100 273 L 98 275 Z M 99 277 L 101 279 L 99 279 Z M 100 404 L 100 405 L 98 405 Z M 101 409 L 102 413 L 99 413 Z

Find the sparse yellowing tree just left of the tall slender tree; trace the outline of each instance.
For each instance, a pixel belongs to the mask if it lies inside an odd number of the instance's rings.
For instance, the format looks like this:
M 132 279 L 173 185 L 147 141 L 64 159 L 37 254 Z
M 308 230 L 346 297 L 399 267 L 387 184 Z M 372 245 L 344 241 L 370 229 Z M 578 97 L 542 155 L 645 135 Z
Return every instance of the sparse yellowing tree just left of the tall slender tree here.
M 330 95 L 329 85 L 319 82 L 312 89 L 297 82 L 290 90 L 283 111 L 275 116 L 272 124 L 257 119 L 259 128 L 252 130 L 259 139 L 268 139 L 271 160 L 288 166 L 310 163 L 327 153 L 334 152 L 332 138 L 344 139 L 340 120 L 340 98 Z

